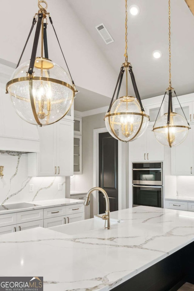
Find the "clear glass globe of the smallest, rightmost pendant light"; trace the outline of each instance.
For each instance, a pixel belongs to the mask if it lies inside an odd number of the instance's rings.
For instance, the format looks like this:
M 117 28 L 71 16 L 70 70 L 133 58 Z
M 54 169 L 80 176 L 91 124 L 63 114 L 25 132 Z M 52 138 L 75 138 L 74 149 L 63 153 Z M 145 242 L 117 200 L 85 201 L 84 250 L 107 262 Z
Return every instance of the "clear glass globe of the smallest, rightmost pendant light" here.
M 165 113 L 156 120 L 153 128 L 154 135 L 163 146 L 178 146 L 188 134 L 189 126 L 184 117 L 171 112 L 170 123 L 167 126 L 168 113 Z

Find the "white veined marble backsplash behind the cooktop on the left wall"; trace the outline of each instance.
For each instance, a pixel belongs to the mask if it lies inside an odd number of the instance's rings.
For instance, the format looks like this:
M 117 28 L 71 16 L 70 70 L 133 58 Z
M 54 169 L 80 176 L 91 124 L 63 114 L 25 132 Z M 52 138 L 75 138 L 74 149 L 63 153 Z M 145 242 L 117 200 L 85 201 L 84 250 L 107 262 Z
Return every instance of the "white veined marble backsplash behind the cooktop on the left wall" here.
M 0 204 L 65 198 L 65 177 L 28 177 L 28 155 L 0 155 Z M 58 184 L 62 183 L 62 190 Z M 29 192 L 29 185 L 34 191 Z

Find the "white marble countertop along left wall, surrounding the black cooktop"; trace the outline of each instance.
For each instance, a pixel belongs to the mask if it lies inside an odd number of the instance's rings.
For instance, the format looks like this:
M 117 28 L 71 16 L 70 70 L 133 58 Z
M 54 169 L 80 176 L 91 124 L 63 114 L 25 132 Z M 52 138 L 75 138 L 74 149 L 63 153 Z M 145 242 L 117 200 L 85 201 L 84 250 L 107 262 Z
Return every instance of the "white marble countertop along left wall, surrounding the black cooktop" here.
M 0 215 L 21 212 L 21 211 L 35 210 L 35 209 L 43 209 L 43 208 L 49 208 L 49 207 L 65 206 L 65 205 L 70 205 L 70 204 L 82 204 L 83 201 L 78 200 L 78 199 L 60 198 L 60 199 L 51 199 L 51 200 L 30 201 L 28 203 L 32 203 L 32 207 L 21 208 L 21 209 L 9 209 L 9 210 L 5 209 L 5 210 L 0 211 Z M 4 205 L 6 206 L 6 204 Z M 33 205 L 39 205 L 39 206 L 33 206 Z

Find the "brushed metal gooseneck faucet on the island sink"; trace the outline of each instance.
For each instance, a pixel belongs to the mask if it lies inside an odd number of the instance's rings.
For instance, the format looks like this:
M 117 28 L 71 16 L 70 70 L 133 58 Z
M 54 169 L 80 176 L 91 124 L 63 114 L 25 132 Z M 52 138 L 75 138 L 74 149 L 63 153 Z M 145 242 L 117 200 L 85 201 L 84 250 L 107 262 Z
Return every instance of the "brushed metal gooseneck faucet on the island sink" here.
M 88 194 L 87 194 L 86 198 L 85 198 L 84 205 L 85 205 L 85 206 L 88 206 L 88 205 L 89 205 L 90 194 L 91 194 L 93 191 L 95 191 L 95 190 L 102 192 L 102 194 L 104 195 L 105 201 L 106 201 L 106 211 L 105 211 L 105 215 L 102 215 L 102 216 L 95 215 L 95 216 L 97 216 L 97 217 L 99 217 L 99 218 L 105 220 L 105 226 L 104 226 L 104 228 L 105 228 L 105 229 L 110 229 L 109 197 L 108 197 L 108 195 L 107 195 L 107 193 L 105 192 L 104 189 L 99 188 L 99 187 L 94 187 L 94 188 L 90 189 L 90 190 L 88 191 Z

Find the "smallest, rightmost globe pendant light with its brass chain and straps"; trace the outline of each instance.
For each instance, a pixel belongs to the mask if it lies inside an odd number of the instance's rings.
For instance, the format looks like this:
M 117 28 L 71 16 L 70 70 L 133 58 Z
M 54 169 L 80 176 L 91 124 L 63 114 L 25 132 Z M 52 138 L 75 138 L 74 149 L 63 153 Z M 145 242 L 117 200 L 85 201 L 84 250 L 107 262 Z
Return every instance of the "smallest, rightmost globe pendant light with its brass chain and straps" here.
M 164 115 L 158 118 L 160 109 L 162 107 L 161 104 L 152 131 L 154 132 L 154 135 L 159 143 L 161 143 L 163 146 L 169 146 L 171 148 L 172 146 L 178 146 L 186 139 L 188 130 L 190 129 L 190 125 L 186 120 L 185 113 L 183 112 L 179 99 L 177 98 L 176 92 L 171 85 L 170 0 L 169 0 L 169 87 L 168 89 L 166 89 L 166 92 L 167 90 L 169 92 L 168 113 L 165 113 Z M 176 112 L 172 112 L 172 90 L 176 95 L 176 98 L 179 102 L 180 108 L 182 109 L 185 118 L 177 114 Z M 166 92 L 164 94 L 164 98 L 166 96 Z M 164 98 L 162 100 L 162 103 L 164 101 Z

